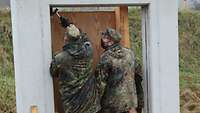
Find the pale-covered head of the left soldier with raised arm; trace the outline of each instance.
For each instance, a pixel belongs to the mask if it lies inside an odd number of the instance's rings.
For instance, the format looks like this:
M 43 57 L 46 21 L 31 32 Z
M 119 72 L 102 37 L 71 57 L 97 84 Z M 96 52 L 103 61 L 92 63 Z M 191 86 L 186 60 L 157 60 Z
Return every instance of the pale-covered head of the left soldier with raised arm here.
M 68 40 L 76 40 L 80 36 L 80 30 L 74 25 L 70 24 L 65 31 L 64 42 Z

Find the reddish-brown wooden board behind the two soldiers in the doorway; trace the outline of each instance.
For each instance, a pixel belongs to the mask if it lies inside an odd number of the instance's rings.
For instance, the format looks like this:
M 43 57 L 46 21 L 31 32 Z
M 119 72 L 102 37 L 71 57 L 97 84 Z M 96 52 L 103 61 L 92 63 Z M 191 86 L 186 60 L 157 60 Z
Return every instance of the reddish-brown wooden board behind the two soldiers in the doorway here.
M 68 12 L 61 13 L 61 15 L 68 17 L 73 23 L 79 27 L 83 32 L 86 32 L 93 45 L 94 51 L 94 66 L 99 61 L 99 57 L 103 52 L 101 48 L 100 39 L 101 32 L 105 31 L 107 27 L 116 28 L 115 12 Z M 52 25 L 52 49 L 53 53 L 57 53 L 62 50 L 64 29 L 60 27 L 59 19 L 56 16 L 51 17 Z M 58 79 L 54 78 L 54 99 L 55 99 L 55 111 L 63 113 L 61 108 L 61 101 L 59 95 Z

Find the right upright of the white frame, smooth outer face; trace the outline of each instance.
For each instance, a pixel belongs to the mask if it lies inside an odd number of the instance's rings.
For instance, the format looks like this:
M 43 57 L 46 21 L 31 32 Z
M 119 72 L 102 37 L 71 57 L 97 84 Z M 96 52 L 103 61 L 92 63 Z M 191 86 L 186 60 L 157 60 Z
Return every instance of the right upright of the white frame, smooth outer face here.
M 177 6 L 174 0 L 149 4 L 150 113 L 180 113 Z

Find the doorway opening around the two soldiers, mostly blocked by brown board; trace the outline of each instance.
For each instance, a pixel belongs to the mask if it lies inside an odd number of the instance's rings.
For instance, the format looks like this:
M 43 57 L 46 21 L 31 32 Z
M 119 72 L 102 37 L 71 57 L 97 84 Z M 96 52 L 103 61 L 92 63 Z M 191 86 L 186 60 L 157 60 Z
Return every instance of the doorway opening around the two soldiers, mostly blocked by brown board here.
M 99 62 L 103 49 L 100 44 L 100 35 L 107 27 L 112 27 L 122 35 L 121 44 L 130 48 L 135 54 L 135 71 L 142 76 L 142 95 L 138 99 L 144 102 L 143 113 L 149 111 L 149 20 L 148 5 L 145 6 L 50 6 L 58 8 L 60 14 L 69 18 L 83 32 L 87 33 L 92 43 L 93 67 Z M 59 24 L 59 18 L 56 15 L 51 16 L 51 36 L 52 36 L 52 54 L 55 55 L 62 50 L 64 45 L 64 29 Z M 54 102 L 55 112 L 63 113 L 61 99 L 59 94 L 58 78 L 54 78 Z

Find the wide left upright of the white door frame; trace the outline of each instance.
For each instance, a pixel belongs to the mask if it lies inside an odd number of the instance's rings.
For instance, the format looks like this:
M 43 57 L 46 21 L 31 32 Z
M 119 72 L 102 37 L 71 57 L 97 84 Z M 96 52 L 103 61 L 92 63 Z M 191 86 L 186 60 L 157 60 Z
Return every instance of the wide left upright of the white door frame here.
M 11 0 L 17 113 L 54 113 L 46 1 Z

